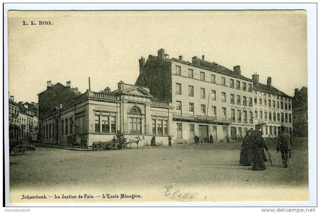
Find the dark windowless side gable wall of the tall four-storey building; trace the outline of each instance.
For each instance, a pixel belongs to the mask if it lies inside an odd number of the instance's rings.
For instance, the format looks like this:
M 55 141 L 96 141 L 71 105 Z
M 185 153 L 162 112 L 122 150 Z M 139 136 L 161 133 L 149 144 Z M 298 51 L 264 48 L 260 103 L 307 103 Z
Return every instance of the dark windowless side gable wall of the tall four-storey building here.
M 160 64 L 157 57 L 149 56 L 135 85 L 149 87 L 154 97 L 172 102 L 171 81 L 171 61 L 164 58 Z

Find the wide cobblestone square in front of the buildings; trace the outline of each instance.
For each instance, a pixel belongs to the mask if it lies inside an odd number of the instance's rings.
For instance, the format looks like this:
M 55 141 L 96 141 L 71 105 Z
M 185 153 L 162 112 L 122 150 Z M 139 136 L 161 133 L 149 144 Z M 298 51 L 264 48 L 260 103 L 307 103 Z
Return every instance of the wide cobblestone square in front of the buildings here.
M 239 165 L 240 147 L 241 143 L 234 143 L 85 152 L 37 147 L 23 156 L 10 155 L 10 190 L 20 195 L 44 190 L 67 194 L 80 189 L 120 193 L 157 186 L 160 189 L 156 192 L 161 193 L 161 187 L 172 185 L 221 189 L 230 199 L 238 188 L 250 192 L 261 187 L 278 190 L 294 186 L 308 192 L 307 150 L 296 150 L 285 169 L 281 154 L 270 147 L 273 166 L 266 162 L 267 170 L 252 171 Z

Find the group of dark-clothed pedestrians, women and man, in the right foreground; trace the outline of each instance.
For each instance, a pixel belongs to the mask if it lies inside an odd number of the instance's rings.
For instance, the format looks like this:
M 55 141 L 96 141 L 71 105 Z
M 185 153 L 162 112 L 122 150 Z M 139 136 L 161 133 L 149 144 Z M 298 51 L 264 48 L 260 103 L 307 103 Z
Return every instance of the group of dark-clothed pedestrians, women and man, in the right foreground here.
M 268 152 L 268 147 L 262 138 L 262 132 L 256 127 L 257 130 L 248 130 L 241 146 L 240 161 L 239 163 L 244 166 L 252 166 L 252 170 L 265 170 L 265 161 L 268 161 L 264 150 Z M 278 137 L 277 151 L 281 151 L 282 162 L 284 167 L 288 167 L 289 156 L 292 149 L 292 137 L 288 133 L 286 127 L 281 127 L 281 132 Z

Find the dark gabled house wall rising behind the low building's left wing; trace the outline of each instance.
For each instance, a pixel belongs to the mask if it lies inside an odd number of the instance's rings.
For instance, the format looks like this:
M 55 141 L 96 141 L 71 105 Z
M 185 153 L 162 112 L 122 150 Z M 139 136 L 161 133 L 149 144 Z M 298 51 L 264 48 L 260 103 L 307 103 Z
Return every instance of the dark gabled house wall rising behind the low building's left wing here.
M 39 94 L 39 122 L 40 120 L 51 114 L 54 107 L 67 106 L 72 103 L 78 95 L 60 83 L 49 87 L 46 91 Z

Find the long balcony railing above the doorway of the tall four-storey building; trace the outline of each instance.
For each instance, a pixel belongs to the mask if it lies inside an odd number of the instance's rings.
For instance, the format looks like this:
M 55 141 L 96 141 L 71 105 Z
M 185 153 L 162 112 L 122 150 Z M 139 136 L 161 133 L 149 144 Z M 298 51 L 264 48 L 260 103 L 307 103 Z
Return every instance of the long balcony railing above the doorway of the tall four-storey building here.
M 173 120 L 191 121 L 196 123 L 208 123 L 208 124 L 220 123 L 220 124 L 227 124 L 227 125 L 231 123 L 229 118 L 218 118 L 218 117 L 211 117 L 211 116 L 204 116 L 204 115 L 173 113 L 172 117 L 173 117 Z

